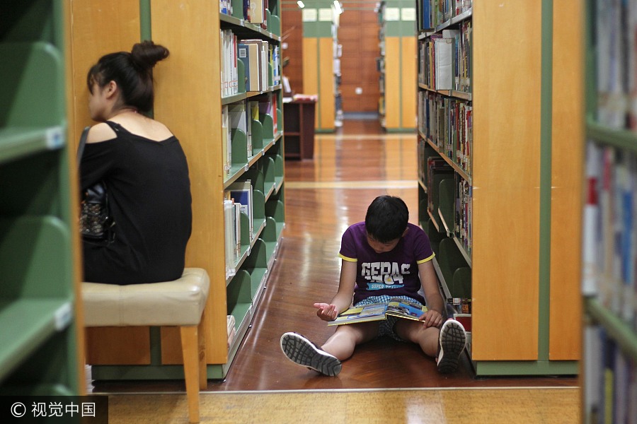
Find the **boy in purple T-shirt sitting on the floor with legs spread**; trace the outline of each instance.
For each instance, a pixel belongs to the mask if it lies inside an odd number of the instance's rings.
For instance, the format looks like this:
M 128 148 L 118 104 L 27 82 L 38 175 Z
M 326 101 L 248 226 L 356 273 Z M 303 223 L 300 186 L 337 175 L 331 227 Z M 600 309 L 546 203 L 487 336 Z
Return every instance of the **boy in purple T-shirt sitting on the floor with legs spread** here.
M 408 223 L 405 202 L 379 196 L 367 208 L 365 222 L 351 225 L 341 241 L 338 291 L 330 303 L 315 303 L 317 316 L 333 322 L 350 305 L 361 307 L 391 298 L 425 305 L 417 321 L 388 315 L 386 319 L 338 325 L 319 348 L 304 336 L 288 332 L 281 337 L 283 353 L 294 363 L 323 375 L 338 375 L 341 361 L 350 358 L 355 346 L 379 336 L 417 343 L 426 355 L 436 358 L 438 370 L 456 370 L 466 334 L 457 321 L 444 321 L 444 302 L 432 265 L 434 254 L 425 232 Z M 425 298 L 418 293 L 423 287 Z M 444 321 L 444 322 L 443 322 Z

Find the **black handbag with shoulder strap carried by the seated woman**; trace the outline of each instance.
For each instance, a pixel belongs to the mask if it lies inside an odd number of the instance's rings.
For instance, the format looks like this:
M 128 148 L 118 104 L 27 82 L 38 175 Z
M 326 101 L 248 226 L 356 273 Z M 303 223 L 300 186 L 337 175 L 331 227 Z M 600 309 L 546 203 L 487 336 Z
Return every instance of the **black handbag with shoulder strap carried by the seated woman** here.
M 80 138 L 77 150 L 79 164 L 84 153 L 89 127 L 86 126 Z M 108 206 L 108 190 L 103 181 L 96 182 L 82 192 L 80 199 L 79 230 L 85 241 L 104 242 L 109 244 L 115 240 L 115 220 L 110 215 Z

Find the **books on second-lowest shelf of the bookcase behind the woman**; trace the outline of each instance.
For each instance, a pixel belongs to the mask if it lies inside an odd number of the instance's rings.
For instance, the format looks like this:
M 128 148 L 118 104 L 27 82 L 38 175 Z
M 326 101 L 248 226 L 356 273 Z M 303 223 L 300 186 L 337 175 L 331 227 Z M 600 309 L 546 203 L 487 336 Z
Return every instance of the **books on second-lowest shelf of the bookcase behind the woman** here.
M 251 180 L 238 181 L 232 183 L 224 192 L 224 240 L 226 249 L 226 278 L 234 276 L 236 262 L 241 257 L 241 233 L 248 240 L 243 240 L 247 244 L 254 237 L 253 228 L 253 191 Z M 244 214 L 243 225 L 248 223 L 248 228 L 243 228 L 241 215 Z

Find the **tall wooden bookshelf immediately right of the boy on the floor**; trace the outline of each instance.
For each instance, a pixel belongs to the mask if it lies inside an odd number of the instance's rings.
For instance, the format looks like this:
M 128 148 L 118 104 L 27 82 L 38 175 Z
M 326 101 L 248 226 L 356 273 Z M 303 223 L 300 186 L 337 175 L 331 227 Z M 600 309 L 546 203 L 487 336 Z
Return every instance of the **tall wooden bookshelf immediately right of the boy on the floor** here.
M 471 23 L 469 90 L 418 82 L 421 225 L 438 246 L 443 285 L 452 297 L 469 295 L 477 375 L 577 374 L 582 168 L 572 141 L 581 134 L 580 31 L 558 25 L 553 16 L 566 13 L 559 2 L 554 10 L 541 2 L 483 1 L 460 9 L 468 3 L 440 2 L 448 10 L 435 11 L 432 1 L 430 28 L 423 28 L 423 2 L 417 4 L 419 59 L 423 43 L 444 30 L 462 37 L 462 25 Z M 449 126 L 428 126 L 423 98 L 435 99 L 426 104 L 438 105 Z M 445 109 L 460 106 L 471 115 Z M 445 135 L 455 142 L 461 131 L 452 123 L 468 116 L 466 161 Z M 454 173 L 431 185 L 428 157 L 441 158 Z M 440 205 L 434 211 L 427 210 L 431 196 Z M 469 218 L 449 223 L 457 199 Z

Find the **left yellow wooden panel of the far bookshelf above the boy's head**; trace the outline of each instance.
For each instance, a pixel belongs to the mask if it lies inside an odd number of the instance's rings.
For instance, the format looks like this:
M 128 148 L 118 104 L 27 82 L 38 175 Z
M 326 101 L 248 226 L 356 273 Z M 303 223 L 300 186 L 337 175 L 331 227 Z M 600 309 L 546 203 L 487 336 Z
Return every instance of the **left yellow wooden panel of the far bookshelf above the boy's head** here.
M 385 38 L 385 127 L 399 128 L 401 126 L 401 91 L 396 90 L 398 76 L 401 74 L 401 39 L 400 37 Z M 413 80 L 410 80 L 413 82 Z M 411 84 L 411 90 L 413 90 Z

